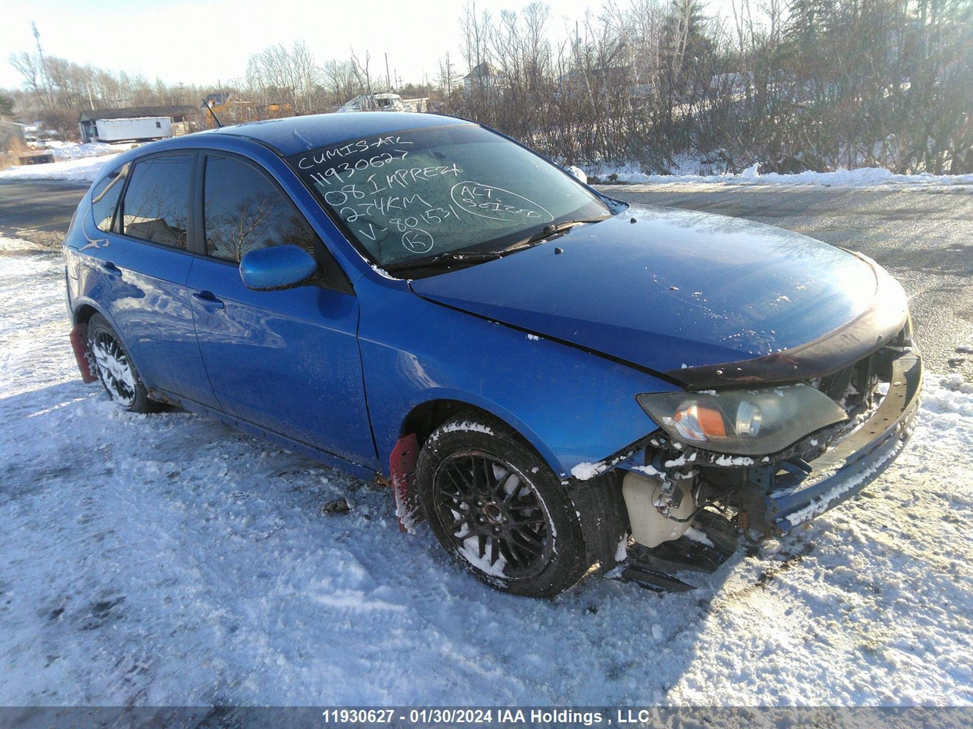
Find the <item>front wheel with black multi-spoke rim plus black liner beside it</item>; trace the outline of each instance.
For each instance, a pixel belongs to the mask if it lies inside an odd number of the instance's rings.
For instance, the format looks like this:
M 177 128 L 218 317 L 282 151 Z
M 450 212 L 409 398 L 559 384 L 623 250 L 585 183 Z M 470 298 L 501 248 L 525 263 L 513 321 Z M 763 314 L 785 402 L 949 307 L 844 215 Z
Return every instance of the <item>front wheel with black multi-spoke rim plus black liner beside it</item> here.
M 479 413 L 456 415 L 429 436 L 416 490 L 450 557 L 515 595 L 554 597 L 596 563 L 614 566 L 628 526 L 615 479 L 562 483 L 518 434 Z

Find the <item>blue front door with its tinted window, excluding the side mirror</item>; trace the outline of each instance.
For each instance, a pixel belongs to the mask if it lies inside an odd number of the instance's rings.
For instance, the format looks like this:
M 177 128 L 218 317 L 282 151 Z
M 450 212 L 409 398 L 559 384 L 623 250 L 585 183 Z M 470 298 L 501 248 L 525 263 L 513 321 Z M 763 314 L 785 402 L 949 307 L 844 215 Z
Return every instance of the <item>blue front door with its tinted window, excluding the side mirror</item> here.
M 198 174 L 205 250 L 189 291 L 199 349 L 228 414 L 362 466 L 377 458 L 358 350 L 358 299 L 310 226 L 248 160 L 207 155 Z M 334 275 L 284 291 L 252 291 L 238 262 L 293 244 Z M 204 255 L 203 255 L 204 254 Z M 340 280 L 342 285 L 329 285 Z

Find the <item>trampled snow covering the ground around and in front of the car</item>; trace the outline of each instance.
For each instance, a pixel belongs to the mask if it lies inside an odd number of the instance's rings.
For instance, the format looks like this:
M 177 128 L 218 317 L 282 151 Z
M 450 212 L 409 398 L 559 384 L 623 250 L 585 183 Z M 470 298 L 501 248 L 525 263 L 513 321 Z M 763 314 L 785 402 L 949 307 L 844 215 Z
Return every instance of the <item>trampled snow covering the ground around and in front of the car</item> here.
M 399 534 L 385 489 L 82 384 L 58 254 L 0 245 L 0 308 L 0 705 L 973 703 L 958 380 L 858 499 L 702 589 L 530 601 Z

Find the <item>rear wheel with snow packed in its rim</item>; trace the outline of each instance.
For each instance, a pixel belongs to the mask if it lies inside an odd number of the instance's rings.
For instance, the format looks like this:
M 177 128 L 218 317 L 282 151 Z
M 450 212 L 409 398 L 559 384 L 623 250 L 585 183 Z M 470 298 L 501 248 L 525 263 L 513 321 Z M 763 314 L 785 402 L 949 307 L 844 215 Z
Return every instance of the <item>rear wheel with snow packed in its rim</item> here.
M 88 359 L 108 397 L 129 412 L 158 412 L 164 406 L 149 399 L 121 337 L 101 314 L 88 322 Z

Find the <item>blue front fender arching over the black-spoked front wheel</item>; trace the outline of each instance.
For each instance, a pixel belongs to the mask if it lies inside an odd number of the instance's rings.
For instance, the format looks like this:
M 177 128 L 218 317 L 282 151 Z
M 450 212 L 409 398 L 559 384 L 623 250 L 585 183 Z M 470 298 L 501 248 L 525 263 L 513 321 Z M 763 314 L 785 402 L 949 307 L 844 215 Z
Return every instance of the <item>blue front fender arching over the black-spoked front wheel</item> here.
M 355 290 L 383 470 L 414 407 L 451 399 L 509 424 L 567 477 L 654 431 L 635 396 L 674 388 L 625 364 L 420 298 L 403 281 L 363 278 Z

